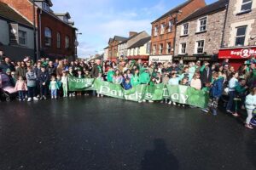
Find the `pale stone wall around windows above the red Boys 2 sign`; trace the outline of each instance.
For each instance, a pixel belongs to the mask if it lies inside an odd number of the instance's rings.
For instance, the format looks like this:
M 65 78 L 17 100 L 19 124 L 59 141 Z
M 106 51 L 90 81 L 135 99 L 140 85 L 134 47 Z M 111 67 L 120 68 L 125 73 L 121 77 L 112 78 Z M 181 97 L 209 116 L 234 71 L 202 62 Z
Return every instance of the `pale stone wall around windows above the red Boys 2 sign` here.
M 245 46 L 256 45 L 256 1 L 253 0 L 253 7 L 250 13 L 237 15 L 241 9 L 241 2 L 242 0 L 230 0 L 228 18 L 224 31 L 224 47 L 235 46 L 237 26 L 247 26 Z

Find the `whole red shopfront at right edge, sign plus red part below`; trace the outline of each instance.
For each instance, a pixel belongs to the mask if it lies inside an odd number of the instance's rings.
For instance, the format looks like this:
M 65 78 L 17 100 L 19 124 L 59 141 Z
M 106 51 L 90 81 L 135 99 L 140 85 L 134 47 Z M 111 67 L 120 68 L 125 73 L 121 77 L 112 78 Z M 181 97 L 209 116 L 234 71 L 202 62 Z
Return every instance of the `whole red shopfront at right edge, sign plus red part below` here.
M 256 46 L 243 48 L 221 48 L 218 52 L 218 59 L 222 62 L 224 59 L 230 59 L 230 65 L 238 69 L 247 59 L 256 56 Z

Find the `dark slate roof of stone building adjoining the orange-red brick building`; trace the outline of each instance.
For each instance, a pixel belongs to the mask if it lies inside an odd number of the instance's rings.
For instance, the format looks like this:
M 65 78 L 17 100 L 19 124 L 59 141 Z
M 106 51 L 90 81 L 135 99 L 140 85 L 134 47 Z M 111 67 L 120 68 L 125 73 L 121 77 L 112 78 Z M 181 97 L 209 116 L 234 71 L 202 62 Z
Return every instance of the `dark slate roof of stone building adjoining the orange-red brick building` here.
M 212 14 L 212 13 L 216 13 L 219 10 L 223 10 L 224 8 L 226 8 L 226 5 L 229 3 L 229 0 L 218 0 L 215 3 L 211 3 L 203 8 L 200 8 L 198 10 L 196 10 L 194 13 L 190 14 L 187 18 L 185 18 L 184 20 L 181 20 L 180 22 L 178 22 L 178 24 L 183 23 L 183 22 L 187 22 L 189 20 L 194 20 L 197 19 L 203 15 L 206 14 Z

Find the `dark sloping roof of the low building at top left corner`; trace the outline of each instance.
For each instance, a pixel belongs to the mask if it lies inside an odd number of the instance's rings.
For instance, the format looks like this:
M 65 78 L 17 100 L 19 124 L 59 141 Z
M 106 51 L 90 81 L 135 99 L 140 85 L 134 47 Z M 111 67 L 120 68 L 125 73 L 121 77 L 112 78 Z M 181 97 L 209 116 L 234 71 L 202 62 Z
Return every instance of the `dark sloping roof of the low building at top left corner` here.
M 13 20 L 21 25 L 33 27 L 32 23 L 30 23 L 20 14 L 18 14 L 13 8 L 9 7 L 9 5 L 7 5 L 6 3 L 0 2 L 0 16 L 8 20 Z

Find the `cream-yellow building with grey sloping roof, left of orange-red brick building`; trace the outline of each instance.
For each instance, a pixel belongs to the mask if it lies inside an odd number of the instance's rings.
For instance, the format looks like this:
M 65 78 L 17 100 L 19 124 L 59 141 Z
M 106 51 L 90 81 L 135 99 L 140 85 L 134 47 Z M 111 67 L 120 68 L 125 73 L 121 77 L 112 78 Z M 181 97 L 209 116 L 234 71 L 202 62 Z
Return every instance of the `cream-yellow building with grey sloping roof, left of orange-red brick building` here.
M 127 49 L 127 59 L 142 59 L 145 62 L 148 61 L 150 54 L 150 41 L 151 37 L 144 37 L 131 45 L 131 47 Z

